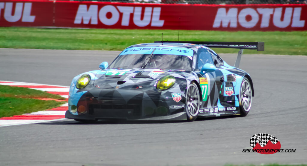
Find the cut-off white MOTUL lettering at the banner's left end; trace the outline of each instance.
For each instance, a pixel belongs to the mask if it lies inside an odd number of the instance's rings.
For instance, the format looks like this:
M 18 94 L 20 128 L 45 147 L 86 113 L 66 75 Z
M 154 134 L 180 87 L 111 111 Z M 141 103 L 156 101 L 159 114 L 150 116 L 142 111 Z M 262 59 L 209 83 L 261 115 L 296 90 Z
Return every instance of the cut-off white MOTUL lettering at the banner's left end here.
M 25 4 L 25 5 L 24 5 Z M 0 14 L 1 10 L 4 9 L 4 19 L 8 22 L 34 22 L 35 16 L 31 16 L 32 3 L 17 2 L 15 6 L 14 15 L 12 15 L 13 2 L 0 2 Z M 1 17 L 0 17 L 1 18 Z

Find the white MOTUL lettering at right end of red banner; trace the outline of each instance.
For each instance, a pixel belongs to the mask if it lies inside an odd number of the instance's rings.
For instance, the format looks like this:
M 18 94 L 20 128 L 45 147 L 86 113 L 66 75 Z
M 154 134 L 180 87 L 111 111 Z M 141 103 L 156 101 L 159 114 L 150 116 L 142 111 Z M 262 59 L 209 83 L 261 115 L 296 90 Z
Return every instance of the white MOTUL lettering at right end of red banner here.
M 273 24 L 278 28 L 286 28 L 290 25 L 291 27 L 304 27 L 305 20 L 301 18 L 301 7 L 287 7 L 282 19 L 282 7 L 280 8 L 245 8 L 239 12 L 238 8 L 230 8 L 226 12 L 226 8 L 219 8 L 213 23 L 213 28 L 220 28 L 221 23 L 223 28 L 237 28 L 238 22 L 244 28 L 253 28 L 259 21 L 259 15 L 262 15 L 260 28 L 269 27 L 271 15 L 273 14 Z M 292 14 L 293 13 L 293 14 Z M 246 16 L 251 16 L 250 20 L 246 19 Z M 293 16 L 293 17 L 292 17 Z

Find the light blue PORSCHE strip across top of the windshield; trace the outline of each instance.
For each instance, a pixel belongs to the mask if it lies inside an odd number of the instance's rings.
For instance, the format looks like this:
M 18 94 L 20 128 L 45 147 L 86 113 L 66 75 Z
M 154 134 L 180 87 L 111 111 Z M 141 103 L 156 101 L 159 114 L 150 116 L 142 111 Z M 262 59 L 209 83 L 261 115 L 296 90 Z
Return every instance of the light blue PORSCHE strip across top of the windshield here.
M 156 50 L 154 50 L 156 48 Z M 153 51 L 154 50 L 154 51 Z M 122 51 L 119 55 L 127 54 L 169 54 L 169 55 L 185 55 L 193 56 L 193 50 L 178 47 L 132 47 Z

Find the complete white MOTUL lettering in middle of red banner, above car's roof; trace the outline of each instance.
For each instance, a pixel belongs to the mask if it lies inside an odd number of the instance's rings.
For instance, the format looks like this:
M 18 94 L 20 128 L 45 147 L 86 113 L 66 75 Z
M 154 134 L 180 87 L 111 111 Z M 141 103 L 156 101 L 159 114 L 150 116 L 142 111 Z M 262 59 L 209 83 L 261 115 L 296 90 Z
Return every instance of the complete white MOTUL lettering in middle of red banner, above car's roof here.
M 107 13 L 111 13 L 110 18 L 107 17 Z M 151 27 L 162 27 L 164 20 L 160 20 L 161 7 L 145 7 L 144 18 L 141 20 L 142 7 L 132 6 L 103 6 L 98 11 L 98 5 L 79 5 L 74 23 L 81 24 L 98 24 L 98 18 L 101 23 L 105 25 L 114 25 L 119 21 L 119 15 L 122 13 L 122 26 L 129 26 L 130 14 L 133 13 L 133 23 L 138 27 L 145 27 L 149 25 Z

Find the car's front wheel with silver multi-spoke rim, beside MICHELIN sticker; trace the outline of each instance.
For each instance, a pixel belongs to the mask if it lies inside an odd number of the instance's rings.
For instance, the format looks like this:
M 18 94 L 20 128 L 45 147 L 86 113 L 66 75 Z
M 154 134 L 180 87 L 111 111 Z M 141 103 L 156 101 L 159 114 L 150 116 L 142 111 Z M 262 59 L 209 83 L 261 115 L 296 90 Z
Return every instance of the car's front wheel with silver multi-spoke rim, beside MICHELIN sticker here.
M 187 112 L 187 120 L 193 121 L 197 118 L 199 111 L 199 90 L 195 83 L 191 83 L 188 86 L 187 94 L 186 94 L 186 112 Z

